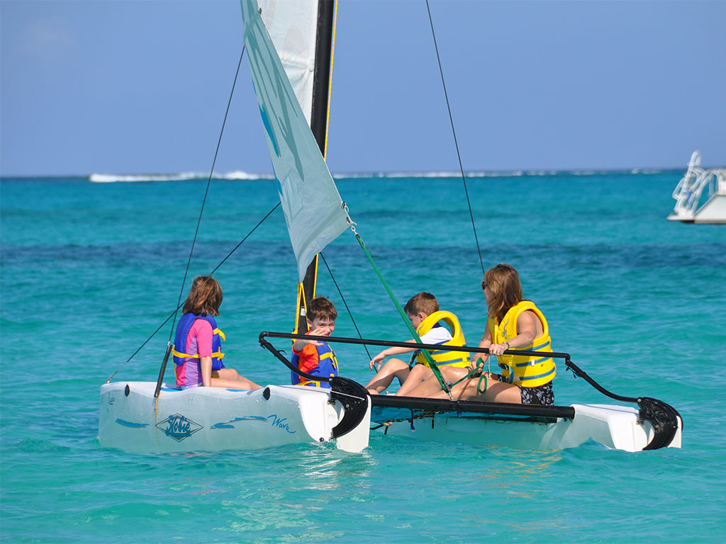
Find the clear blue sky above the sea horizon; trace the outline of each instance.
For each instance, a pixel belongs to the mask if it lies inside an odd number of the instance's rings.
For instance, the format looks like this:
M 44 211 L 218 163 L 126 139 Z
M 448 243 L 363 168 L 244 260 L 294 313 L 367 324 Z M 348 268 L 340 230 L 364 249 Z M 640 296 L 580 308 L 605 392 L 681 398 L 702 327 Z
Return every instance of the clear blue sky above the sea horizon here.
M 466 171 L 726 165 L 726 1 L 431 0 Z M 237 1 L 0 0 L 0 175 L 211 170 Z M 340 0 L 333 173 L 457 171 L 425 0 Z M 271 173 L 247 59 L 216 173 Z

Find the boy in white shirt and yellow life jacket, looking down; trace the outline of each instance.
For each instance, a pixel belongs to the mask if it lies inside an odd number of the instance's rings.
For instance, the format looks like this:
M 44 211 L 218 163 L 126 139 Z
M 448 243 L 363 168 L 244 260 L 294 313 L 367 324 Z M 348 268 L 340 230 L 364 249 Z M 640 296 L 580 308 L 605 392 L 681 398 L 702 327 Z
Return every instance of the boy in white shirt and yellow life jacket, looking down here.
M 416 329 L 416 334 L 422 344 L 463 346 L 466 343 L 464 334 L 457 316 L 451 312 L 440 311 L 439 302 L 431 293 L 420 292 L 412 297 L 404 306 L 404 312 L 411 324 Z M 441 323 L 449 326 L 451 331 Z M 406 342 L 416 342 L 415 339 Z M 386 357 L 400 355 L 402 353 L 413 353 L 410 363 L 400 359 L 389 359 L 383 368 L 381 363 Z M 429 354 L 436 363 L 436 366 L 457 366 L 466 368 L 469 366 L 469 354 L 462 351 L 429 350 Z M 433 371 L 425 358 L 425 355 L 416 347 L 388 347 L 386 350 L 375 355 L 370 361 L 368 368 L 373 370 L 376 367 L 378 373 L 366 386 L 371 395 L 378 395 L 386 390 L 393 379 L 396 378 L 401 388 L 396 395 L 408 395 L 418 384 L 428 377 L 433 376 Z

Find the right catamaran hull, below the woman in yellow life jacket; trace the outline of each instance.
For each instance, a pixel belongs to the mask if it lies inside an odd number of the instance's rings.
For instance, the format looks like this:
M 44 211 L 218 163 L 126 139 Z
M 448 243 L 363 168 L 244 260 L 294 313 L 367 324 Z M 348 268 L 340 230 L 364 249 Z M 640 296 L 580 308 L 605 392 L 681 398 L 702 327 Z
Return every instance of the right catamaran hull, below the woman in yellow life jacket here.
M 575 448 L 594 440 L 607 448 L 635 452 L 653 441 L 653 425 L 641 421 L 635 408 L 600 404 L 574 404 L 571 408 L 574 408 L 571 419 L 553 418 L 550 421 L 483 413 L 439 413 L 413 420 L 386 421 L 383 411 L 374 408 L 373 426 L 386 434 L 421 440 L 528 450 Z M 679 417 L 677 431 L 667 447 L 680 448 L 681 435 Z

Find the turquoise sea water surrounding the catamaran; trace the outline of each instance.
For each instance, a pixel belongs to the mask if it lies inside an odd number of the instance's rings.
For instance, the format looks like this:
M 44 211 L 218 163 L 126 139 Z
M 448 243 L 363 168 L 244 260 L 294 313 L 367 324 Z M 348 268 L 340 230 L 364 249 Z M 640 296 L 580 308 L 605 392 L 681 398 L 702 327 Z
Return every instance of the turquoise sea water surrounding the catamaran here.
M 99 387 L 176 305 L 205 181 L 3 179 L 1 519 L 8 543 L 717 542 L 726 529 L 726 227 L 672 223 L 681 172 L 468 181 L 484 266 L 521 272 L 555 350 L 612 392 L 685 419 L 683 448 L 591 443 L 530 452 L 372 435 L 188 455 L 100 448 Z M 340 194 L 399 301 L 421 290 L 483 331 L 481 265 L 457 178 L 342 178 Z M 212 183 L 191 275 L 208 273 L 277 203 L 269 180 Z M 350 233 L 325 250 L 364 337 L 407 338 Z M 289 372 L 258 347 L 289 331 L 295 263 L 277 210 L 215 273 L 230 366 Z M 338 306 L 323 267 L 319 294 Z M 154 380 L 165 326 L 118 379 Z M 367 382 L 362 347 L 341 374 Z M 609 400 L 558 367 L 558 404 Z

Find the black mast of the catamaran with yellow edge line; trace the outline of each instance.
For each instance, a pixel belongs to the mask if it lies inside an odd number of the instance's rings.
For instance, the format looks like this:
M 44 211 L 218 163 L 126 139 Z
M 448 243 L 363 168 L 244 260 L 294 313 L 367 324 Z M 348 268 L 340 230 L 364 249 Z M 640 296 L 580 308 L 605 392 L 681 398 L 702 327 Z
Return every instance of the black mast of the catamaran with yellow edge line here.
M 333 36 L 335 34 L 335 1 L 319 0 L 317 37 L 315 41 L 315 69 L 310 115 L 310 130 L 325 158 L 327 120 L 330 101 L 330 75 L 333 67 Z M 305 278 L 298 284 L 295 332 L 306 332 L 306 308 L 315 297 L 318 255 L 308 265 Z

